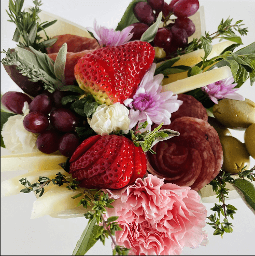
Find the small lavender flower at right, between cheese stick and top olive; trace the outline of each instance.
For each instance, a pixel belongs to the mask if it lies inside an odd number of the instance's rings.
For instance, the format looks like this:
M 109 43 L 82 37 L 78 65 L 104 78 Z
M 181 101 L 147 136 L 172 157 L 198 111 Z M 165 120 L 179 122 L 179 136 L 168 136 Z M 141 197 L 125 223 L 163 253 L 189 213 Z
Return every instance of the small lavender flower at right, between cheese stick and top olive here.
M 234 78 L 230 76 L 229 78 L 204 86 L 201 89 L 215 104 L 218 104 L 220 99 L 245 100 L 242 95 L 236 92 L 239 88 L 233 89 L 237 85 L 232 84 L 233 82 Z

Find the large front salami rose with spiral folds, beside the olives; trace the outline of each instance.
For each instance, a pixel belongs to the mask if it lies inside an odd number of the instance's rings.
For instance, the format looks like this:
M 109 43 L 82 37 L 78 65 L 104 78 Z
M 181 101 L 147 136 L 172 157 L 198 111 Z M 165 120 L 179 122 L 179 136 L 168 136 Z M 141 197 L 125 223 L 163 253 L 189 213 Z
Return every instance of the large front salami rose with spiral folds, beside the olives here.
M 217 132 L 205 120 L 180 117 L 162 128 L 180 135 L 156 144 L 156 155 L 147 153 L 149 172 L 165 178 L 165 182 L 191 186 L 196 191 L 217 176 L 222 147 Z

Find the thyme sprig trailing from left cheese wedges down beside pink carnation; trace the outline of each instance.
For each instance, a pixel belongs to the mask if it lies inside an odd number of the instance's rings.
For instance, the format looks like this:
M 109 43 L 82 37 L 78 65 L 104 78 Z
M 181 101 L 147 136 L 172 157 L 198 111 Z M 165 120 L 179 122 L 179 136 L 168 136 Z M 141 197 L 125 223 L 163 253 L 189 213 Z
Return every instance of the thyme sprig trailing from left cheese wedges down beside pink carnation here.
M 113 255 L 127 255 L 129 253 L 128 248 L 123 246 L 118 246 L 116 240 L 114 238 L 115 232 L 122 230 L 116 220 L 119 217 L 112 216 L 105 220 L 104 214 L 106 213 L 106 207 L 114 208 L 111 204 L 114 202 L 114 199 L 110 199 L 108 194 L 105 194 L 102 190 L 97 189 L 84 189 L 78 186 L 79 181 L 75 179 L 70 179 L 70 177 L 66 177 L 61 172 L 56 173 L 56 177 L 54 179 L 50 179 L 48 177 L 39 177 L 38 182 L 31 184 L 26 178 L 22 178 L 19 180 L 22 185 L 25 186 L 20 192 L 30 193 L 35 192 L 36 194 L 40 192 L 39 197 L 42 196 L 45 192 L 45 186 L 49 185 L 51 182 L 54 185 L 62 186 L 63 184 L 67 184 L 67 188 L 69 190 L 81 191 L 77 195 L 73 196 L 73 199 L 78 197 L 82 197 L 77 206 L 82 205 L 83 208 L 88 208 L 91 206 L 91 203 L 94 205 L 91 208 L 91 211 L 84 213 L 84 217 L 89 219 L 89 223 L 92 220 L 96 220 L 96 224 L 98 225 L 97 233 L 93 234 L 94 241 L 101 240 L 105 245 L 105 238 L 110 237 L 112 239 L 112 243 L 115 245 L 114 250 L 112 251 Z M 102 223 L 102 225 L 100 225 Z M 91 234 L 89 234 L 91 235 Z

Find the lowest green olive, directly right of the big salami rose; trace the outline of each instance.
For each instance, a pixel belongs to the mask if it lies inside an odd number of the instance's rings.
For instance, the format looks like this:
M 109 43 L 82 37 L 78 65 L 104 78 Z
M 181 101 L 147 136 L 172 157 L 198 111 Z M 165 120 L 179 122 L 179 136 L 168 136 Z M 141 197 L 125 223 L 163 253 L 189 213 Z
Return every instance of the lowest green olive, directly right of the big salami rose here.
M 223 150 L 222 170 L 229 173 L 241 171 L 245 166 L 247 170 L 250 166 L 250 155 L 245 144 L 232 136 L 220 137 Z

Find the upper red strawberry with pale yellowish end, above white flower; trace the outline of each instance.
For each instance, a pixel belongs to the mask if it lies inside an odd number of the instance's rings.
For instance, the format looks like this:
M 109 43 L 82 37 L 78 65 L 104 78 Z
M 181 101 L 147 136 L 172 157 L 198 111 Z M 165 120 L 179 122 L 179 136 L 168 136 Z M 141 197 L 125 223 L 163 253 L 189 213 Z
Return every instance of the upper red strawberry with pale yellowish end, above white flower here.
M 141 41 L 100 48 L 78 61 L 75 77 L 98 103 L 123 103 L 135 94 L 154 56 L 154 48 Z

